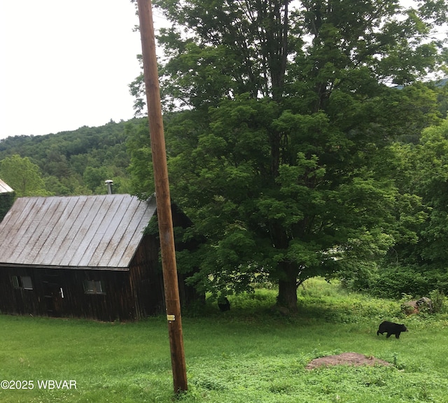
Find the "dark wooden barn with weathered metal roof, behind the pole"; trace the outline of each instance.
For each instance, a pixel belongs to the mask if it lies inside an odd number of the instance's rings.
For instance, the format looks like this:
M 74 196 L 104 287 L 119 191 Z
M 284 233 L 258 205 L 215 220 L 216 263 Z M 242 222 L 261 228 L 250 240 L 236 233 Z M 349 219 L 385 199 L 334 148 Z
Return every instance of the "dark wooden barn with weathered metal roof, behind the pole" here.
M 21 197 L 0 223 L 0 312 L 138 320 L 163 311 L 155 197 Z M 173 208 L 174 226 L 188 218 Z M 177 248 L 177 246 L 176 246 Z M 195 299 L 179 276 L 181 304 Z

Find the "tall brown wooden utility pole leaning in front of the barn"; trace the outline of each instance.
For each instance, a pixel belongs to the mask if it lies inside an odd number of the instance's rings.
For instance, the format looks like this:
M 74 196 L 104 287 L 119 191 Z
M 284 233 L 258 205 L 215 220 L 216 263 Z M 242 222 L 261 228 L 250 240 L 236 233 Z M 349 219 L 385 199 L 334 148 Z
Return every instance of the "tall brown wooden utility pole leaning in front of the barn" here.
M 188 389 L 185 353 L 183 350 L 181 303 L 177 280 L 176 253 L 174 250 L 174 231 L 169 196 L 167 152 L 163 132 L 162 108 L 160 106 L 160 85 L 155 55 L 155 36 L 151 0 L 138 0 L 141 48 L 143 54 L 146 100 L 153 155 L 155 198 L 162 251 L 163 282 L 165 285 L 165 303 L 169 346 L 174 381 L 174 393 Z

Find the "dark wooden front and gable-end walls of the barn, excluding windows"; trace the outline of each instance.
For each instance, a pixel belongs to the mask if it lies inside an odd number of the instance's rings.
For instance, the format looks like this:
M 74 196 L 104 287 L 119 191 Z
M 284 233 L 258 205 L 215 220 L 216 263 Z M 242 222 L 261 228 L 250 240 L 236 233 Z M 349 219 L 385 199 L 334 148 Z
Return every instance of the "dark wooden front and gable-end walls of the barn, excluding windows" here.
M 104 321 L 136 320 L 160 313 L 163 283 L 157 254 L 157 241 L 145 236 L 129 271 L 2 267 L 0 312 Z M 13 276 L 29 276 L 33 289 L 15 288 Z M 101 281 L 104 293 L 85 292 L 86 280 Z

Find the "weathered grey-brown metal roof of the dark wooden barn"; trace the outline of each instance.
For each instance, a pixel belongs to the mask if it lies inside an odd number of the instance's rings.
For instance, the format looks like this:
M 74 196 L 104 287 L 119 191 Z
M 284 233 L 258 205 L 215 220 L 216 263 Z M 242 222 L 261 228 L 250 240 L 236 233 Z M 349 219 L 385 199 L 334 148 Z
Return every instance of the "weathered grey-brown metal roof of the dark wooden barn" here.
M 0 266 L 126 270 L 155 213 L 130 195 L 20 197 L 0 223 Z

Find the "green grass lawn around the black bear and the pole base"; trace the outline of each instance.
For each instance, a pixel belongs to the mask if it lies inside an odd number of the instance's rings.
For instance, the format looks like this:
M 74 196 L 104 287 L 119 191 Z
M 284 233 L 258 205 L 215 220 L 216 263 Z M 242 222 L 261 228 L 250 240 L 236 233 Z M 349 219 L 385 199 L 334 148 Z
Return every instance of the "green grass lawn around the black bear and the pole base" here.
M 351 294 L 314 279 L 299 290 L 300 313 L 271 311 L 274 290 L 209 303 L 183 317 L 188 393 L 181 402 L 448 402 L 448 315 L 404 318 L 400 303 Z M 376 334 L 405 323 L 399 340 Z M 0 315 L 0 402 L 172 402 L 167 323 L 97 323 Z M 323 355 L 356 352 L 392 367 L 305 369 Z M 37 381 L 74 380 L 76 389 Z

